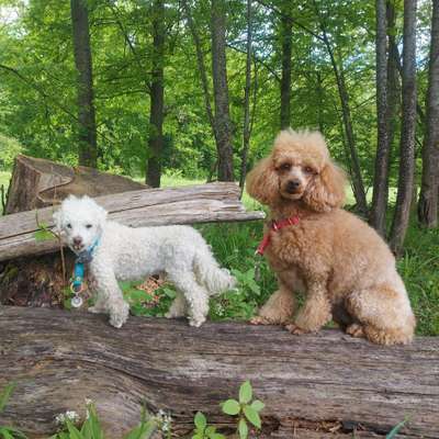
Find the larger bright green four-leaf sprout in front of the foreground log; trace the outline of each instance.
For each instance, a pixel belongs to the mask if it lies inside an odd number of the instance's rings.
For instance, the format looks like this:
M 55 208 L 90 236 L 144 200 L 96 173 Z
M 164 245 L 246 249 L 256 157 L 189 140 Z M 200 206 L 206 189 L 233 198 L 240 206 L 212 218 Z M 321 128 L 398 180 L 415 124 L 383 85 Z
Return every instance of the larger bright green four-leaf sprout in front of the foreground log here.
M 264 407 L 264 404 L 259 399 L 252 402 L 251 399 L 251 384 L 246 381 L 239 387 L 239 401 L 227 399 L 222 404 L 222 409 L 226 415 L 239 417 L 237 432 L 240 439 L 247 439 L 248 437 L 248 423 L 258 429 L 261 428 L 259 412 Z

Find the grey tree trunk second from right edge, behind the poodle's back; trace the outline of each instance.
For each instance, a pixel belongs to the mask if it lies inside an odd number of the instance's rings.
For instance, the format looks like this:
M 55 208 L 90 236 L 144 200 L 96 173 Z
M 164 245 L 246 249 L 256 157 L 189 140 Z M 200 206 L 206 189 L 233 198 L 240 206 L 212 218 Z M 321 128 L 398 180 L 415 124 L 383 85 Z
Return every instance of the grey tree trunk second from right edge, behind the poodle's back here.
M 416 131 L 416 0 L 404 0 L 403 120 L 399 143 L 399 180 L 391 248 L 399 254 L 408 227 L 415 173 Z

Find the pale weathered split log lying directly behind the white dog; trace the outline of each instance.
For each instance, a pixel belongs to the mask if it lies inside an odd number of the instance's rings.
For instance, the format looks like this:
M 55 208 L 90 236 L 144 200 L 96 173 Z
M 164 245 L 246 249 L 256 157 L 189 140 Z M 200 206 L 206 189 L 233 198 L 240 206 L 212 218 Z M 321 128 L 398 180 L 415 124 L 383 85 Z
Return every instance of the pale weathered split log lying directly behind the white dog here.
M 98 196 L 110 219 L 140 227 L 167 224 L 248 221 L 262 212 L 246 212 L 236 183 L 211 183 L 171 189 L 148 189 Z M 54 207 L 38 210 L 40 223 L 53 226 Z M 36 241 L 36 212 L 0 217 L 0 261 L 57 250 L 57 241 Z

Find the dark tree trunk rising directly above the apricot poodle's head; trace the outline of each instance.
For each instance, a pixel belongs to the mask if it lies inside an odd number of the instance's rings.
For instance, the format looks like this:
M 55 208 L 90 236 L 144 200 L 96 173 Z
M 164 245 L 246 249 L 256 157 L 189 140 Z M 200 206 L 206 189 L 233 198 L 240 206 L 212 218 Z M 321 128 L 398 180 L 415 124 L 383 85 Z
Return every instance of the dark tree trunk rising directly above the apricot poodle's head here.
M 281 77 L 281 128 L 291 124 L 291 57 L 293 21 L 290 0 L 283 0 L 281 5 L 281 41 L 282 41 L 282 77 Z

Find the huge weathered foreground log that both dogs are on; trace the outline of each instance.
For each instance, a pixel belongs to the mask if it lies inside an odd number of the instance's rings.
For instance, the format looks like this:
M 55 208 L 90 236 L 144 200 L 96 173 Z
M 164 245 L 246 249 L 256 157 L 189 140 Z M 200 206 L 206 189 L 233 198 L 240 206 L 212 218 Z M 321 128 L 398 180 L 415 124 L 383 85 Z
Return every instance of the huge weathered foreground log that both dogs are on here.
M 227 427 L 218 403 L 250 380 L 266 403 L 266 438 L 352 438 L 353 429 L 370 438 L 406 416 L 398 437 L 439 437 L 438 338 L 382 347 L 339 330 L 297 337 L 275 326 L 142 317 L 114 329 L 104 316 L 8 306 L 0 334 L 0 386 L 18 383 L 0 425 L 34 435 L 53 432 L 58 413 L 83 415 L 86 397 L 109 438 L 136 425 L 142 401 L 171 412 L 177 436 L 196 410 Z

